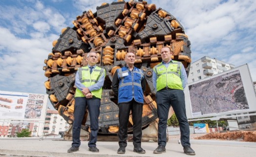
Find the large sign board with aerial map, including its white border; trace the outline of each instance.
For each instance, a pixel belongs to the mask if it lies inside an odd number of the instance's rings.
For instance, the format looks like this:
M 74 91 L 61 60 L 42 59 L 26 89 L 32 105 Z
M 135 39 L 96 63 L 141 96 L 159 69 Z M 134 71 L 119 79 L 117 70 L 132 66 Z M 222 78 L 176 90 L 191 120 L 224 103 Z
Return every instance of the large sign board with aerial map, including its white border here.
M 184 93 L 189 119 L 256 111 L 256 94 L 247 64 L 190 83 Z

